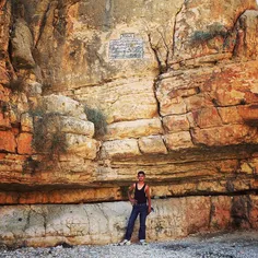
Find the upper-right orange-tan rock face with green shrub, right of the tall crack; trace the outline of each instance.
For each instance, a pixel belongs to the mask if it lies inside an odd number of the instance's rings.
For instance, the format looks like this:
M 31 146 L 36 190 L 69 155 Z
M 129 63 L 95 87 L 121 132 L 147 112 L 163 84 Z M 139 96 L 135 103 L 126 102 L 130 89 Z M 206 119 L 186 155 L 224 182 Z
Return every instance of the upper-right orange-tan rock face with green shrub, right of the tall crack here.
M 218 3 L 215 0 L 204 0 L 201 3 L 198 0 L 190 0 L 183 4 L 181 11 L 176 16 L 173 61 L 184 63 L 194 58 L 195 63 L 196 57 L 232 54 L 234 46 L 238 45 L 236 34 L 242 34 L 242 39 L 244 38 L 244 34 L 247 33 L 243 32 L 244 20 L 250 21 L 253 14 L 250 11 L 247 14 L 248 19 L 246 13 L 241 15 L 246 10 L 256 9 L 256 1 L 247 0 L 243 3 L 237 0 Z M 242 32 L 235 31 L 238 19 Z M 244 44 L 242 46 L 245 47 Z M 223 57 L 218 55 L 214 58 L 220 60 Z

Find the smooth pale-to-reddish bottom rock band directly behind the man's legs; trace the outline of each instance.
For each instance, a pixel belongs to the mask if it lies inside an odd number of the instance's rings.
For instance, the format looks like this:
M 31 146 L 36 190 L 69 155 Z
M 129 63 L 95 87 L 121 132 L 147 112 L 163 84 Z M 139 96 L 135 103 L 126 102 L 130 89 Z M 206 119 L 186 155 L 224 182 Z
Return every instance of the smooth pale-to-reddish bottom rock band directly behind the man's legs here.
M 187 197 L 153 201 L 146 223 L 149 241 L 183 237 L 197 232 L 257 227 L 256 196 Z M 248 208 L 247 208 L 248 206 Z M 110 244 L 125 235 L 129 202 L 0 208 L 0 241 L 16 246 L 56 246 L 60 243 Z M 197 215 L 198 214 L 198 215 Z M 132 239 L 137 239 L 136 224 Z

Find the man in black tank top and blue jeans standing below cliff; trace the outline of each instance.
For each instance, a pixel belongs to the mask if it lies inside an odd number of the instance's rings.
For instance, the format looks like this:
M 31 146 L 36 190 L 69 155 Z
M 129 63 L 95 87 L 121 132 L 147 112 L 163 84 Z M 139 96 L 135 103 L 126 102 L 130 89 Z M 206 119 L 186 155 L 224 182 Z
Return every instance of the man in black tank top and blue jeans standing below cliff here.
M 145 242 L 145 221 L 148 214 L 151 213 L 151 194 L 150 187 L 144 183 L 145 173 L 138 172 L 138 181 L 132 184 L 128 189 L 128 198 L 132 204 L 132 211 L 127 225 L 125 239 L 119 245 L 130 245 L 131 235 L 137 216 L 140 214 L 139 241 L 141 245 L 146 245 Z M 134 192 L 134 195 L 132 195 Z

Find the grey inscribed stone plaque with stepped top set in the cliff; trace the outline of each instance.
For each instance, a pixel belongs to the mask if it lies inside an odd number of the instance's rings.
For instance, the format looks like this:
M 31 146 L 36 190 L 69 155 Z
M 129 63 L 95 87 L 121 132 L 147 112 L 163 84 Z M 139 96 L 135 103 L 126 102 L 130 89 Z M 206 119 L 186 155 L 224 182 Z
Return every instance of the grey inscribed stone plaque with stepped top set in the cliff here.
M 125 33 L 119 39 L 109 43 L 110 59 L 141 59 L 143 58 L 143 40 L 136 38 L 133 33 Z

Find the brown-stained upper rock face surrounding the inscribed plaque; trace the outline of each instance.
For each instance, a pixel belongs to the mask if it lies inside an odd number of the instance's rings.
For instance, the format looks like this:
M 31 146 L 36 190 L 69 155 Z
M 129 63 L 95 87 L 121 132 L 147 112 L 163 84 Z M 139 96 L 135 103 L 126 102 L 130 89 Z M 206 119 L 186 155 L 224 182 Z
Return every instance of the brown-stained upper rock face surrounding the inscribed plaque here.
M 183 0 L 23 1 L 31 14 L 27 22 L 36 40 L 40 68 L 47 81 L 57 87 L 105 83 L 110 78 L 121 78 L 125 72 L 127 77 L 142 71 L 155 74 L 157 64 L 152 48 L 165 63 L 167 48 L 173 43 L 174 16 L 183 3 Z M 39 27 L 43 31 L 38 35 Z M 116 45 L 115 40 L 122 37 L 132 37 L 131 44 L 140 48 L 143 44 L 139 52 L 142 58 L 133 58 L 132 54 L 130 60 L 116 61 L 110 42 Z

